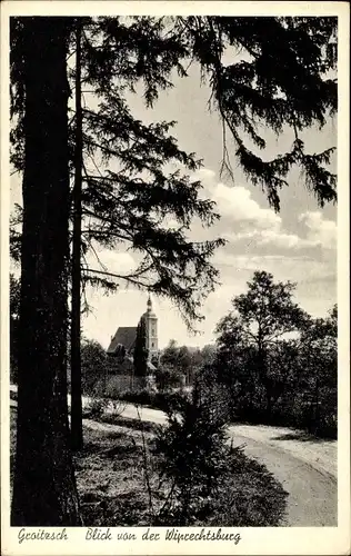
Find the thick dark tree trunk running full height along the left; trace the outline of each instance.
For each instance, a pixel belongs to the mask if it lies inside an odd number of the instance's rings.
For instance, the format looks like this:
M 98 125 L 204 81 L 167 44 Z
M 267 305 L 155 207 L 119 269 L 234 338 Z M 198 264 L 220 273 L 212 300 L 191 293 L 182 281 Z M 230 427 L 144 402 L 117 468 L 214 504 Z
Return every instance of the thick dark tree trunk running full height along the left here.
M 23 18 L 26 166 L 13 526 L 81 525 L 68 445 L 68 18 Z

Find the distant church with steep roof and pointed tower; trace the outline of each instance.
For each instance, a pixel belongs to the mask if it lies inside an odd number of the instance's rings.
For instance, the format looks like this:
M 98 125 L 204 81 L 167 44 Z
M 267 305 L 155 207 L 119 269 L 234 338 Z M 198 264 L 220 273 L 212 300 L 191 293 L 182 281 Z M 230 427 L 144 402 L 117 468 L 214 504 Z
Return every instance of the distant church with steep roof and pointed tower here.
M 140 317 L 146 322 L 147 330 L 147 349 L 149 351 L 149 364 L 152 367 L 152 359 L 159 357 L 158 342 L 158 318 L 152 310 L 152 302 L 149 296 L 147 311 Z M 131 360 L 134 354 L 137 338 L 137 327 L 123 326 L 119 327 L 111 337 L 107 354 L 111 357 L 126 357 Z

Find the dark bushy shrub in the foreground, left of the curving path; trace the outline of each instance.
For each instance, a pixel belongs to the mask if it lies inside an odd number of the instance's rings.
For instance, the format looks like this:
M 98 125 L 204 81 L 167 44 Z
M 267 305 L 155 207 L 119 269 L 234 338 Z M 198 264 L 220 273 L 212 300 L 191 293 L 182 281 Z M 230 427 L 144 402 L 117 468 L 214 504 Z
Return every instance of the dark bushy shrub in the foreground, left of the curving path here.
M 227 416 L 199 385 L 191 397 L 169 397 L 164 410 L 168 426 L 159 427 L 153 451 L 161 479 L 171 486 L 159 523 L 173 517 L 191 525 L 212 512 L 228 473 Z

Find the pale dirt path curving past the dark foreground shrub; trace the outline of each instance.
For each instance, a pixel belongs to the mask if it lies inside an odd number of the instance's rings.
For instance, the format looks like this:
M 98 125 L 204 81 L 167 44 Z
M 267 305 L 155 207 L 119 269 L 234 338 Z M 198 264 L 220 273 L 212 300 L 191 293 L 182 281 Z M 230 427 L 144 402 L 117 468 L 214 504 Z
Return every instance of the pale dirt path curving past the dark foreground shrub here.
M 127 405 L 123 417 L 137 418 L 134 406 Z M 141 409 L 141 418 L 166 423 L 162 411 Z M 90 427 L 113 427 L 92 424 Z M 244 445 L 247 456 L 265 465 L 289 493 L 287 526 L 337 526 L 337 443 L 319 440 L 301 431 L 282 427 L 232 425 L 233 444 Z

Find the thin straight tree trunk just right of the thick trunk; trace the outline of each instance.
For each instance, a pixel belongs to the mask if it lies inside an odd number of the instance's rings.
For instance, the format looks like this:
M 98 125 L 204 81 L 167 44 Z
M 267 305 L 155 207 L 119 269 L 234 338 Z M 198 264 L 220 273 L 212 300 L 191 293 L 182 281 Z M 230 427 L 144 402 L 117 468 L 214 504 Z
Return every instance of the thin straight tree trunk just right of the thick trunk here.
M 72 309 L 71 309 L 71 440 L 78 450 L 83 445 L 80 357 L 81 314 L 81 218 L 82 218 L 82 107 L 81 107 L 81 23 L 76 31 L 76 168 L 73 188 Z

